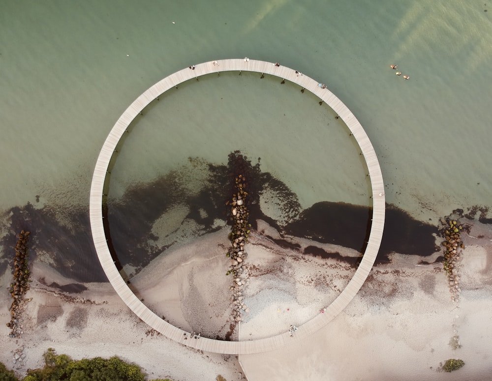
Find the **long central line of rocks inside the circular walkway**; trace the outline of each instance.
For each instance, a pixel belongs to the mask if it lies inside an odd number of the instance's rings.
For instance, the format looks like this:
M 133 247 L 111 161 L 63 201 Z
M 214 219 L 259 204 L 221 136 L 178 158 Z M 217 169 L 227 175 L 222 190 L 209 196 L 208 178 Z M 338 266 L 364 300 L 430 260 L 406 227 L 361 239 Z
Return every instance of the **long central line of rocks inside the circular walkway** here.
M 245 250 L 245 244 L 247 237 L 249 236 L 250 224 L 248 223 L 249 213 L 246 206 L 247 192 L 246 177 L 239 175 L 235 179 L 236 193 L 232 196 L 232 201 L 229 201 L 231 207 L 232 216 L 232 228 L 229 234 L 229 240 L 231 241 L 231 247 L 227 251 L 227 258 L 230 258 L 231 269 L 227 271 L 227 275 L 233 275 L 232 286 L 230 290 L 232 314 L 231 318 L 235 322 L 241 322 L 243 320 L 243 314 L 249 312 L 243 296 L 243 289 L 246 285 L 248 273 L 244 266 L 247 258 Z

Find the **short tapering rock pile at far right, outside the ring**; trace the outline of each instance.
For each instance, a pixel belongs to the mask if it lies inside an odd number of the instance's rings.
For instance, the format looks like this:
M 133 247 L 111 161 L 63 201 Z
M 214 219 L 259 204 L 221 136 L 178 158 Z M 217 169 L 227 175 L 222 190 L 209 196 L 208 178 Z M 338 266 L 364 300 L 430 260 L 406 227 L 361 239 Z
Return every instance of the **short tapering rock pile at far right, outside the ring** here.
M 464 248 L 461 240 L 461 230 L 463 227 L 456 220 L 447 219 L 441 230 L 444 237 L 442 245 L 444 246 L 444 271 L 448 276 L 449 291 L 451 300 L 458 302 L 460 300 L 460 272 L 462 250 Z

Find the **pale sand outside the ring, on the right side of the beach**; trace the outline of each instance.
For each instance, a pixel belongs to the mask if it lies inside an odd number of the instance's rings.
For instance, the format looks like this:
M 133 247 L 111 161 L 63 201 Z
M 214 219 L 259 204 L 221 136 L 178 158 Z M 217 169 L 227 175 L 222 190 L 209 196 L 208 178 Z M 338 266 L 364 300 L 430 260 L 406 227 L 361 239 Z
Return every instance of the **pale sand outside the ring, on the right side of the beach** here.
M 305 340 L 296 340 L 294 335 L 292 345 L 277 351 L 240 355 L 247 378 L 489 379 L 492 234 L 475 223 L 470 235 L 463 235 L 466 248 L 458 303 L 450 300 L 442 265 L 420 265 L 420 257 L 395 254 L 391 264 L 373 268 L 356 298 L 316 334 Z M 250 331 L 261 330 L 261 322 L 253 324 L 258 328 L 251 326 Z M 454 335 L 462 345 L 456 350 L 449 344 Z M 439 371 L 449 358 L 461 358 L 465 366 L 453 373 Z

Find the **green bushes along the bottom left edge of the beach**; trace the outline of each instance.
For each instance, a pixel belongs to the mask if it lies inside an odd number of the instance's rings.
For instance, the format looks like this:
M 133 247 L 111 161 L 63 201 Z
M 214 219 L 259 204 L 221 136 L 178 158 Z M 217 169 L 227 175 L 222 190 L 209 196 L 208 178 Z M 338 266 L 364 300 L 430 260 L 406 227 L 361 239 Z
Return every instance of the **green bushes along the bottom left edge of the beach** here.
M 49 348 L 44 354 L 44 367 L 30 370 L 22 381 L 145 381 L 138 365 L 128 364 L 119 357 L 72 360 L 66 354 L 56 354 Z M 0 363 L 0 381 L 19 381 L 14 372 Z M 152 381 L 171 381 L 156 379 Z

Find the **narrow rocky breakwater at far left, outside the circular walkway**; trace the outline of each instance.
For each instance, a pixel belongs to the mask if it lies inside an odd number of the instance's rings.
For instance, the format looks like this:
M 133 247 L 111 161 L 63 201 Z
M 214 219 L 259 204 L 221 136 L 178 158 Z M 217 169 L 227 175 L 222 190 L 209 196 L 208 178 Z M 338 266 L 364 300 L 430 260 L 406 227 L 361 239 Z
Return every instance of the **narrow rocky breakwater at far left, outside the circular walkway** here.
M 30 299 L 24 296 L 29 290 L 29 263 L 28 263 L 28 240 L 30 232 L 21 231 L 17 235 L 17 244 L 15 245 L 14 257 L 14 280 L 10 284 L 10 294 L 12 295 L 12 305 L 10 306 L 10 322 L 7 327 L 11 329 L 9 337 L 18 338 L 22 333 L 23 321 L 22 312 L 24 303 Z

